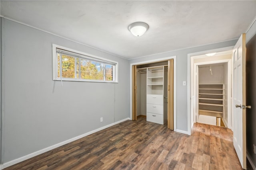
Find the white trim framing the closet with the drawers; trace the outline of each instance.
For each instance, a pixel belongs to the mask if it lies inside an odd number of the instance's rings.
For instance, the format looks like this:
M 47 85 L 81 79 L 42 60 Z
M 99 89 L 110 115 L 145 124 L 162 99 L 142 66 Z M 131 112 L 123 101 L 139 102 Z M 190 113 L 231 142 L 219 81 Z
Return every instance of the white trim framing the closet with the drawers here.
M 173 59 L 173 127 L 174 131 L 176 131 L 177 122 L 176 122 L 176 56 L 165 57 L 160 59 L 146 60 L 137 63 L 130 63 L 130 120 L 132 120 L 132 66 L 138 64 L 147 64 L 147 63 L 155 63 L 164 60 Z

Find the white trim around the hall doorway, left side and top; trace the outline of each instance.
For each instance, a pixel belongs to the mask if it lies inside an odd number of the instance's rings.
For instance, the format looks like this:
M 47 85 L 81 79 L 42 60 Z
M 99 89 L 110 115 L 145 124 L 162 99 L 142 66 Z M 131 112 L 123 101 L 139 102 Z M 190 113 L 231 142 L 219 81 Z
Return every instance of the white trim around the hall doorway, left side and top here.
M 223 48 L 218 48 L 218 49 L 210 49 L 206 51 L 198 51 L 196 53 L 189 53 L 188 54 L 188 69 L 187 69 L 187 108 L 188 108 L 188 135 L 191 135 L 191 130 L 192 130 L 192 125 L 191 125 L 191 115 L 192 115 L 192 110 L 191 110 L 191 64 L 194 65 L 194 62 L 191 63 L 191 59 L 193 56 L 196 55 L 204 55 L 207 53 L 215 53 L 215 52 L 222 52 L 222 51 L 228 51 L 228 50 L 233 50 L 234 46 L 229 46 L 229 47 L 223 47 Z

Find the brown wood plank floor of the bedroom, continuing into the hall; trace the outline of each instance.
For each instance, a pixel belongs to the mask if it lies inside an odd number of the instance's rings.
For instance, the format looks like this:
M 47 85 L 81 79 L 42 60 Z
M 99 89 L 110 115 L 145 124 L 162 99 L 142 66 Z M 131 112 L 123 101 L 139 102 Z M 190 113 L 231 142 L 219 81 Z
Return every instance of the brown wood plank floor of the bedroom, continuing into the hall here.
M 5 170 L 240 170 L 232 138 L 225 127 L 196 123 L 188 136 L 139 117 Z

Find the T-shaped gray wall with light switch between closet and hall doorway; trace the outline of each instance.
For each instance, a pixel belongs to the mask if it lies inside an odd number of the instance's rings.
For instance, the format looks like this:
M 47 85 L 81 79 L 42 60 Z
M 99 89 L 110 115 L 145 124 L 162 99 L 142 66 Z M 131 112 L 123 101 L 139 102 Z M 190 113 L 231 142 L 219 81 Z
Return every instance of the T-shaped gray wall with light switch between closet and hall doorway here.
M 174 41 L 174 40 L 170 40 Z M 191 40 L 193 41 L 193 40 Z M 153 59 L 160 59 L 164 57 L 176 56 L 176 108 L 177 108 L 177 129 L 182 131 L 188 131 L 188 108 L 187 108 L 187 86 L 182 86 L 182 81 L 187 81 L 187 68 L 188 68 L 188 54 L 196 53 L 200 51 L 206 51 L 211 49 L 218 49 L 222 47 L 229 47 L 236 44 L 237 40 L 225 41 L 221 43 L 215 43 L 211 45 L 203 45 L 200 47 L 193 47 L 188 49 L 181 49 L 176 51 L 170 51 L 166 53 L 150 55 L 146 57 L 141 57 L 138 59 L 130 60 L 131 63 L 138 63 L 143 61 L 149 61 Z

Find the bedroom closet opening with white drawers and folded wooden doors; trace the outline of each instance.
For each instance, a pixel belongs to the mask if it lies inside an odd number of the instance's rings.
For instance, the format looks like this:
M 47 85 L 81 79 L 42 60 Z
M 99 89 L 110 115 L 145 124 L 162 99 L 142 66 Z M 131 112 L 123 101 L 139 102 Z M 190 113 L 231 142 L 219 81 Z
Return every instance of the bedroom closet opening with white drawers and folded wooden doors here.
M 132 66 L 132 120 L 174 129 L 173 59 Z

